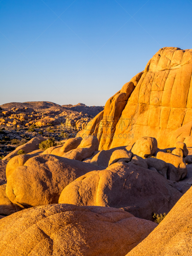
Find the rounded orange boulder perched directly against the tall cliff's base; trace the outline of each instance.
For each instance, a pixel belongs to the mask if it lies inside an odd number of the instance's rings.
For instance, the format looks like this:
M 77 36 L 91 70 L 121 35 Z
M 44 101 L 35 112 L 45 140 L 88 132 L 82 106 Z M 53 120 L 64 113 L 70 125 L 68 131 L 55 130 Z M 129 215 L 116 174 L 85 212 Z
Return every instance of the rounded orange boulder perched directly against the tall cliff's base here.
M 157 140 L 151 137 L 142 137 L 132 146 L 131 152 L 140 157 L 153 155 L 157 150 Z

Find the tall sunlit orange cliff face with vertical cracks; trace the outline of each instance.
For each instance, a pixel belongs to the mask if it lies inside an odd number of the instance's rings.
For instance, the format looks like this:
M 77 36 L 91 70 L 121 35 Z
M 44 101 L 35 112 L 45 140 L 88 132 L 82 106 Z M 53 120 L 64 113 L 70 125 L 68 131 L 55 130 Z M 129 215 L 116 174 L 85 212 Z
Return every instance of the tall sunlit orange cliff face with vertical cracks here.
M 159 148 L 174 147 L 191 135 L 191 74 L 192 49 L 160 49 L 79 135 L 96 133 L 99 150 L 133 145 L 144 136 L 155 137 Z

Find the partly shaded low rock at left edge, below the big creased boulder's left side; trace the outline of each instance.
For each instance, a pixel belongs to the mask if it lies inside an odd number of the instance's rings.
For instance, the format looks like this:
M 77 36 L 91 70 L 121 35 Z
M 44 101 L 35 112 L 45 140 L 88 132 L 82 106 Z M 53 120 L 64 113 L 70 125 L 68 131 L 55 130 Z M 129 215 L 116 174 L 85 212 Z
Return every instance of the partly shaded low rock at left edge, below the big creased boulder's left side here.
M 0 186 L 0 215 L 7 216 L 22 210 L 17 204 L 13 204 L 6 195 L 6 184 Z

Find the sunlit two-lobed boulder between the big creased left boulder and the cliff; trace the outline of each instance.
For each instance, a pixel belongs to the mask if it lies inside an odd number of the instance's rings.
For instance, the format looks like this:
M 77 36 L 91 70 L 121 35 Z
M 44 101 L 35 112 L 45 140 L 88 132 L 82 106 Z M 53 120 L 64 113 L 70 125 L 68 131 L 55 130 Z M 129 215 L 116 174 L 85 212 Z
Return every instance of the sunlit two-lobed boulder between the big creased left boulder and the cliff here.
M 91 157 L 94 151 L 98 150 L 98 147 L 99 140 L 94 136 L 88 136 L 81 140 L 80 145 L 76 149 L 70 150 L 62 156 L 68 159 L 83 161 Z

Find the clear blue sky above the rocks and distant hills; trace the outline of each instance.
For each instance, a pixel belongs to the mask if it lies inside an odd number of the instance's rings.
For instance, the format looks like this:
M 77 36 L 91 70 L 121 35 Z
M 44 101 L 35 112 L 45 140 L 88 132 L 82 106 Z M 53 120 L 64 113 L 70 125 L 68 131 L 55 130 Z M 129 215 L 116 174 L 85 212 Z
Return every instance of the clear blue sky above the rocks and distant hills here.
M 192 48 L 191 13 L 189 0 L 2 0 L 0 104 L 104 105 L 161 47 Z

